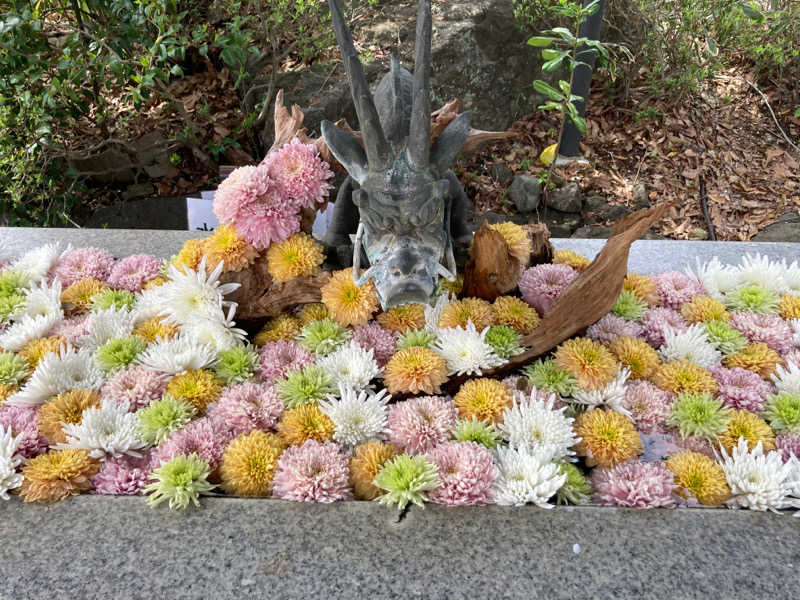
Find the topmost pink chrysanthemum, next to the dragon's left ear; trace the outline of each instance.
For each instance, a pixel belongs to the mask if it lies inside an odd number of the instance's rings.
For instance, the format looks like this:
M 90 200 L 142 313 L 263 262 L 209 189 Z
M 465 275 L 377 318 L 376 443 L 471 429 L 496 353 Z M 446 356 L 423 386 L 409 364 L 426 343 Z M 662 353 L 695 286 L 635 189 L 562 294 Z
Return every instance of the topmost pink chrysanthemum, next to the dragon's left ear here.
M 300 206 L 311 208 L 322 202 L 333 187 L 328 183 L 333 171 L 322 160 L 317 147 L 297 138 L 268 154 L 261 164 L 266 166 L 283 195 Z

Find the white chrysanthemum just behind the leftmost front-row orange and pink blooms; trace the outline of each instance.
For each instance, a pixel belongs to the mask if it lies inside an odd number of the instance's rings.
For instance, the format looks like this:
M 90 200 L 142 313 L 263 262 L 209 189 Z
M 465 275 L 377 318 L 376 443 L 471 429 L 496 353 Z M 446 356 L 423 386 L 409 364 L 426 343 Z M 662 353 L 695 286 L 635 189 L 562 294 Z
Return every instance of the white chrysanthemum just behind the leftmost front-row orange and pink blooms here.
M 89 452 L 92 458 L 107 456 L 119 458 L 123 454 L 141 456 L 137 450 L 145 443 L 139 437 L 139 418 L 128 410 L 125 402 L 104 399 L 102 405 L 84 409 L 80 423 L 65 423 L 62 431 L 67 441 L 55 448 L 78 448 Z

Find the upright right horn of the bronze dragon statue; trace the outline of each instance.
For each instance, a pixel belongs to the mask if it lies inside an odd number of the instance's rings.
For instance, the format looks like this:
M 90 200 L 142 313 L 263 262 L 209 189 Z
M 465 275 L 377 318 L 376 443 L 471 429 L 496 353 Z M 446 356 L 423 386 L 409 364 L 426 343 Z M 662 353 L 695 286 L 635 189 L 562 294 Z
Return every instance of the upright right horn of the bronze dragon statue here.
M 408 159 L 414 165 L 427 167 L 431 148 L 431 0 L 419 1 L 415 44 Z

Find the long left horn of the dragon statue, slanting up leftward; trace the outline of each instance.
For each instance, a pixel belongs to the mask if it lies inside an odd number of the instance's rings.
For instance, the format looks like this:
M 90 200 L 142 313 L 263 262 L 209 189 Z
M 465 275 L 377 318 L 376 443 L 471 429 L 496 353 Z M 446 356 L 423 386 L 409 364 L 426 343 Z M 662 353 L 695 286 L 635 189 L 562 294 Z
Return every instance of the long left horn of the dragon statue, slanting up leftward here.
M 339 50 L 342 53 L 342 62 L 344 62 L 347 78 L 350 81 L 350 91 L 353 94 L 353 103 L 361 126 L 361 134 L 364 136 L 367 161 L 373 169 L 380 169 L 389 164 L 391 156 L 389 143 L 386 141 L 386 135 L 383 133 L 381 122 L 378 119 L 378 111 L 375 108 L 367 78 L 364 76 L 364 69 L 361 61 L 358 60 L 353 37 L 344 21 L 339 2 L 328 0 L 328 4 L 331 8 L 333 31 L 336 33 L 336 40 L 339 42 Z

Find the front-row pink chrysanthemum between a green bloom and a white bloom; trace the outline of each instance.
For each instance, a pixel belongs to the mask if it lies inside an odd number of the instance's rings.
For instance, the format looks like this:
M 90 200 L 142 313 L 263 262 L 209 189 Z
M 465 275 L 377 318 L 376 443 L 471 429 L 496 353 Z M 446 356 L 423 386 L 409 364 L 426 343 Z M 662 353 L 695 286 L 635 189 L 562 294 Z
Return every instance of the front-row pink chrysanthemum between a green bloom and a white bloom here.
M 489 450 L 475 442 L 445 442 L 427 453 L 439 469 L 441 486 L 428 499 L 448 506 L 479 506 L 494 498 L 498 471 Z

